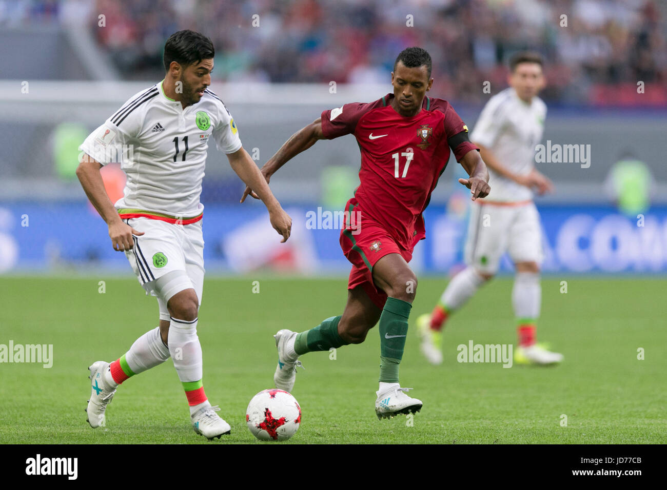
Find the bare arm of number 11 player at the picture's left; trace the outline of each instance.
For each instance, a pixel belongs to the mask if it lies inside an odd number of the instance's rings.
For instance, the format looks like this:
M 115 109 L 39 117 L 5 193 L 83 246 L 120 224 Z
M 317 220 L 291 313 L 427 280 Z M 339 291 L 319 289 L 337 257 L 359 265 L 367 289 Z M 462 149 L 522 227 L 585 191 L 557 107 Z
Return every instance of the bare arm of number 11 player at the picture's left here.
M 79 167 L 77 167 L 77 177 L 81 182 L 81 187 L 85 195 L 90 199 L 91 204 L 97 209 L 97 212 L 109 226 L 109 238 L 111 245 L 117 251 L 131 250 L 134 241 L 132 235 L 141 236 L 143 231 L 137 231 L 133 227 L 123 223 L 107 191 L 104 189 L 104 181 L 99 173 L 102 164 L 87 153 L 83 153 Z

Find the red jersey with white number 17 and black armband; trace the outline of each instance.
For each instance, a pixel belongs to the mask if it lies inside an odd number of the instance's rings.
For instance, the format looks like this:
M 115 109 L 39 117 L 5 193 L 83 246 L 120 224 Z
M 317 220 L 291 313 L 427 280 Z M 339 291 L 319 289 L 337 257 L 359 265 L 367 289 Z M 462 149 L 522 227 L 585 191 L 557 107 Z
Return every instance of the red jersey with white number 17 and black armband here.
M 422 213 L 447 166 L 450 146 L 457 161 L 478 147 L 447 101 L 424 97 L 422 110 L 404 117 L 390 105 L 393 98 L 390 93 L 323 111 L 322 133 L 327 139 L 354 134 L 362 153 L 354 197 L 365 215 L 412 249 L 426 237 Z

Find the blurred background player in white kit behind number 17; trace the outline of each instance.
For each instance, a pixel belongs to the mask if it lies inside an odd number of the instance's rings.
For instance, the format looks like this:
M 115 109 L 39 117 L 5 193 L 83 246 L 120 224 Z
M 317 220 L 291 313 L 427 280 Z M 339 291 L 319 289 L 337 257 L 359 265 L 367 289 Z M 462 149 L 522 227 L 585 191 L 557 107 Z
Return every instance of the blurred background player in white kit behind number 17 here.
M 537 95 L 544 87 L 542 57 L 516 53 L 510 59 L 509 88 L 488 101 L 470 140 L 480 147 L 489 169 L 488 198 L 472 204 L 466 239 L 466 269 L 448 284 L 433 312 L 417 319 L 422 353 L 434 364 L 442 363 L 442 327 L 478 288 L 498 271 L 500 258 L 508 252 L 516 275 L 512 306 L 516 316 L 518 347 L 514 361 L 553 364 L 562 354 L 536 343 L 542 289 L 542 231 L 533 191 L 553 190 L 552 182 L 534 166 L 534 151 L 542 139 L 546 105 Z

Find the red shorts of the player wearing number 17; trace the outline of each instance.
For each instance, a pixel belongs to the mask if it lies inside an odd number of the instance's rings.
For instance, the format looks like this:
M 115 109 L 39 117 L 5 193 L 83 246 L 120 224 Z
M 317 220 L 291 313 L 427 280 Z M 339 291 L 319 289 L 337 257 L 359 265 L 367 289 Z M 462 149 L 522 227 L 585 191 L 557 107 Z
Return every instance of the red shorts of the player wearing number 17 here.
M 340 247 L 352 262 L 348 289 L 362 286 L 373 303 L 383 309 L 387 295 L 375 287 L 373 266 L 388 253 L 400 253 L 406 262 L 410 262 L 413 249 L 403 249 L 380 223 L 365 217 L 356 199 L 348 201 L 346 211 L 345 226 L 340 232 Z

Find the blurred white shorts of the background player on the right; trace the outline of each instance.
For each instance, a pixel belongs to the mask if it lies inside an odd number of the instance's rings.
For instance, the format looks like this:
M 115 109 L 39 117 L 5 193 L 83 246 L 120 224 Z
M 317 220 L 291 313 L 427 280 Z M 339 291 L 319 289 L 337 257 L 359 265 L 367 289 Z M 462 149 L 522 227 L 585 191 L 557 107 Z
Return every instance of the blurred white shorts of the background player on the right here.
M 495 274 L 505 252 L 514 263 L 542 263 L 542 227 L 535 204 L 472 203 L 466 264 L 482 273 Z

